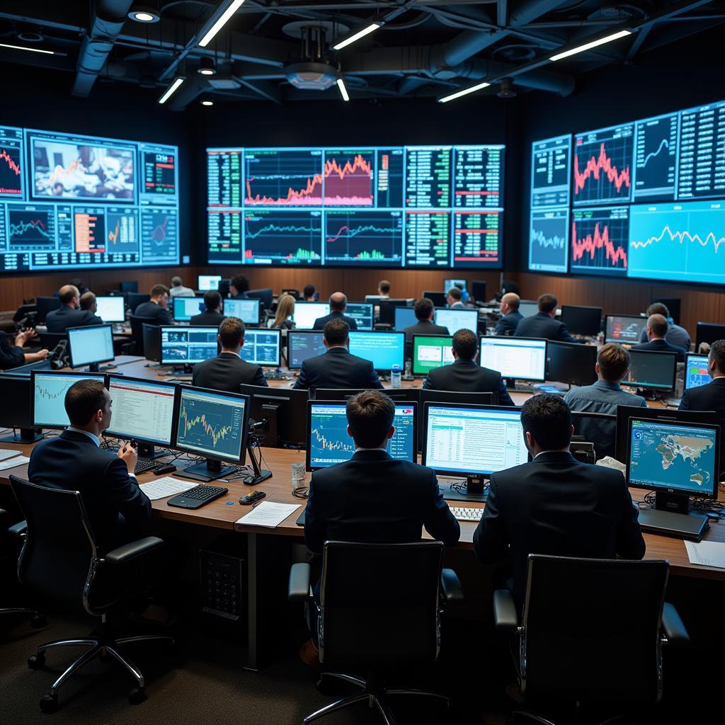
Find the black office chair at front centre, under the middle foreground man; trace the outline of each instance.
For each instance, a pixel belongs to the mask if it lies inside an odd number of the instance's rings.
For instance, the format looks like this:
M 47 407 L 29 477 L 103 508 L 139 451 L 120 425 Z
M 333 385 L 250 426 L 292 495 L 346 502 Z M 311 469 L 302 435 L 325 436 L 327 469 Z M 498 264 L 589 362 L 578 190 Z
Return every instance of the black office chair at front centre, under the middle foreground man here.
M 318 605 L 310 604 L 310 565 L 292 566 L 289 600 L 305 601 L 316 609 L 320 663 L 368 672 L 363 680 L 341 671 L 323 671 L 320 677 L 342 679 L 361 691 L 308 715 L 304 723 L 367 701 L 386 725 L 394 725 L 389 695 L 435 697 L 448 705 L 444 695 L 389 689 L 384 682 L 394 666 L 433 663 L 438 657 L 442 602 L 463 600 L 455 571 L 442 565 L 441 542 L 325 542 Z

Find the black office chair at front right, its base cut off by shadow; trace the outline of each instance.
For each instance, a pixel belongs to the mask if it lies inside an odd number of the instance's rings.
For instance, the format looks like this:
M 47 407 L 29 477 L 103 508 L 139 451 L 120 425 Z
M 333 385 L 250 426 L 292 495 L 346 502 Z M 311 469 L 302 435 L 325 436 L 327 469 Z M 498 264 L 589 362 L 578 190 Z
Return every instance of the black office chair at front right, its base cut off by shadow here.
M 667 561 L 529 555 L 523 618 L 508 589 L 494 592 L 494 624 L 518 635 L 524 700 L 583 705 L 657 703 L 662 645 L 689 642 L 665 602 Z M 512 652 L 514 647 L 512 647 Z M 543 724 L 529 711 L 513 713 Z

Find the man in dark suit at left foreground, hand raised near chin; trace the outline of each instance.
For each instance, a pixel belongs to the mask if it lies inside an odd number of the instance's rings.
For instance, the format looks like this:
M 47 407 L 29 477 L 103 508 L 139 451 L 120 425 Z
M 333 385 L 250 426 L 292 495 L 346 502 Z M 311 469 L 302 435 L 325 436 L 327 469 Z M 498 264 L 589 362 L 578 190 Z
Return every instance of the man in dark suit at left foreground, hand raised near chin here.
M 80 380 L 65 394 L 70 427 L 30 453 L 28 479 L 52 489 L 80 491 L 102 550 L 136 539 L 151 518 L 151 502 L 138 487 L 136 450 L 99 447 L 111 423 L 111 397 L 100 381 Z

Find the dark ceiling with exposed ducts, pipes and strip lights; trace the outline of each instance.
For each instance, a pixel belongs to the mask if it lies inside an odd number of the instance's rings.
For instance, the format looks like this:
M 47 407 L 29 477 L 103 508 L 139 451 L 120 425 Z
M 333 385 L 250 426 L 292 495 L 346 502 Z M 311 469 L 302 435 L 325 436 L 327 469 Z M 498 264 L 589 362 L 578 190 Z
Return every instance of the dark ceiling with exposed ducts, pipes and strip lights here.
M 68 92 L 78 97 L 92 96 L 97 83 L 157 88 L 160 96 L 183 75 L 168 102 L 175 110 L 199 99 L 339 99 L 337 77 L 353 99 L 435 98 L 483 81 L 491 85 L 479 92 L 502 97 L 531 89 L 566 96 L 597 67 L 640 62 L 647 51 L 725 21 L 725 2 L 708 0 L 246 0 L 202 48 L 200 38 L 227 4 L 2 0 L 0 44 L 54 54 L 0 45 L 0 64 L 65 71 Z M 128 12 L 139 5 L 157 12 L 159 22 L 130 20 Z M 331 49 L 372 20 L 384 25 L 347 48 Z M 625 28 L 634 32 L 549 60 Z M 209 61 L 215 75 L 196 72 Z M 296 87 L 310 74 L 331 87 Z

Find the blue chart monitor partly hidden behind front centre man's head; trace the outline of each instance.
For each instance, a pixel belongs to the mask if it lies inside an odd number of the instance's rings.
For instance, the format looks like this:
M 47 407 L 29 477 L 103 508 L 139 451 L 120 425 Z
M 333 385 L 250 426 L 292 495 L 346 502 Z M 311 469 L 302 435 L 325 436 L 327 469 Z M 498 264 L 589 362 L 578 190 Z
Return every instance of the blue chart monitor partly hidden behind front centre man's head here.
M 307 403 L 307 471 L 329 468 L 350 460 L 355 441 L 347 434 L 344 402 L 310 400 Z M 389 455 L 415 463 L 418 442 L 418 405 L 412 402 L 395 405 L 395 433 L 386 443 Z

